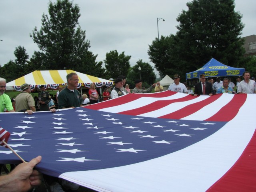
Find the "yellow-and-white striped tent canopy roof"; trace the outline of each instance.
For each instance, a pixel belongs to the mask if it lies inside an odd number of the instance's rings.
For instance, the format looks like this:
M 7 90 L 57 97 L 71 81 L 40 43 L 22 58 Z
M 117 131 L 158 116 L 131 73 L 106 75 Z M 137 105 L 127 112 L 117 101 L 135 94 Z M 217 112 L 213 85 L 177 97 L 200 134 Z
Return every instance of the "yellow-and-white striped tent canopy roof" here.
M 6 84 L 7 90 L 14 90 L 14 86 L 21 86 L 24 83 L 36 86 L 36 85 L 49 85 L 49 84 L 63 84 L 66 83 L 66 76 L 69 73 L 76 73 L 81 84 L 91 83 L 104 83 L 109 84 L 112 81 L 90 76 L 73 70 L 48 70 L 48 71 L 34 71 L 30 74 L 22 76 L 16 80 L 8 82 Z

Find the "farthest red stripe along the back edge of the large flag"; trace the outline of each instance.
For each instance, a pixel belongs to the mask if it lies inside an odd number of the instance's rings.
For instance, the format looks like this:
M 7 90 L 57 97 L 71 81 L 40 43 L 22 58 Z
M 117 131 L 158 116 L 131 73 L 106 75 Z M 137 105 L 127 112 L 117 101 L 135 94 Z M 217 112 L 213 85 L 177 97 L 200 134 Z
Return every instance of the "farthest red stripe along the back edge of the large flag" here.
M 93 104 L 89 106 L 85 106 L 85 108 L 93 109 L 93 110 L 100 110 L 108 107 L 114 107 L 122 104 L 126 104 L 128 102 L 137 100 L 141 97 L 153 97 L 153 98 L 161 98 L 161 97 L 168 97 L 176 94 L 176 92 L 172 91 L 165 91 L 161 93 L 156 93 L 156 94 L 127 94 L 125 96 L 122 96 L 122 98 L 115 98 L 108 100 L 106 102 L 98 103 L 98 104 Z

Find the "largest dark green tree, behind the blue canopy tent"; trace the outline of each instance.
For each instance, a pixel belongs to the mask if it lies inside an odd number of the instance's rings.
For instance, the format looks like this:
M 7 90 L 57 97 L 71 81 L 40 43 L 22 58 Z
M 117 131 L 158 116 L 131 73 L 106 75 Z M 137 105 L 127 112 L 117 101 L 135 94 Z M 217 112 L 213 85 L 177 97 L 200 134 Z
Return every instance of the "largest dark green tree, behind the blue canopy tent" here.
M 166 68 L 184 77 L 211 58 L 229 66 L 244 64 L 240 38 L 244 24 L 242 15 L 234 11 L 234 0 L 193 0 L 186 5 L 188 10 L 177 18 L 178 32 L 170 38 L 169 49 L 160 50 L 161 56 L 169 57 Z

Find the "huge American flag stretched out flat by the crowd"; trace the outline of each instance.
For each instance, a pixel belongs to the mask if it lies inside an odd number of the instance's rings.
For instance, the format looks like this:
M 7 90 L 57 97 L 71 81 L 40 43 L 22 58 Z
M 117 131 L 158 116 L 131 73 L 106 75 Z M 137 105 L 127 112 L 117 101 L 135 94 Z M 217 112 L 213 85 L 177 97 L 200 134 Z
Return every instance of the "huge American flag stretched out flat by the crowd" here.
M 256 191 L 256 94 L 127 94 L 56 113 L 1 113 L 36 168 L 97 191 Z M 20 160 L 0 147 L 0 163 Z

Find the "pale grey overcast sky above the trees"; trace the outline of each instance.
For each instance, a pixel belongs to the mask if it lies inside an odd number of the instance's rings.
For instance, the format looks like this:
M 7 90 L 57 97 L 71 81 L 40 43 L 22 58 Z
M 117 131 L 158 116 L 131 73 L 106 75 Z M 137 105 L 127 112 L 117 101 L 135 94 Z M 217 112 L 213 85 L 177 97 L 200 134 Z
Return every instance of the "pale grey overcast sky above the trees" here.
M 40 29 L 42 14 L 48 14 L 48 0 L 0 0 L 0 64 L 14 60 L 14 50 L 24 46 L 29 57 L 38 51 L 30 38 Z M 56 0 L 52 0 L 56 2 Z M 80 7 L 79 23 L 90 40 L 90 51 L 103 61 L 106 53 L 117 50 L 130 55 L 131 66 L 139 59 L 149 62 L 148 45 L 158 36 L 175 34 L 176 18 L 187 10 L 189 0 L 74 0 Z M 256 34 L 256 0 L 235 0 L 235 11 L 243 15 L 242 37 Z

